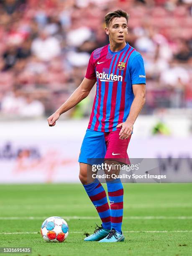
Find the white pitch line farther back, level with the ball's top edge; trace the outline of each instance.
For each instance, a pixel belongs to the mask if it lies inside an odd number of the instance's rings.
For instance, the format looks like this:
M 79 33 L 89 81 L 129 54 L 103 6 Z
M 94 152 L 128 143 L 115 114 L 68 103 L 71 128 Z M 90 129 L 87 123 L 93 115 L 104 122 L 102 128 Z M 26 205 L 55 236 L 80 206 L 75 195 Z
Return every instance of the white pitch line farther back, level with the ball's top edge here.
M 47 216 L 33 217 L 0 217 L 0 220 L 44 220 Z M 64 216 L 65 220 L 97 220 L 99 217 L 92 216 Z M 124 216 L 124 220 L 191 220 L 192 216 Z

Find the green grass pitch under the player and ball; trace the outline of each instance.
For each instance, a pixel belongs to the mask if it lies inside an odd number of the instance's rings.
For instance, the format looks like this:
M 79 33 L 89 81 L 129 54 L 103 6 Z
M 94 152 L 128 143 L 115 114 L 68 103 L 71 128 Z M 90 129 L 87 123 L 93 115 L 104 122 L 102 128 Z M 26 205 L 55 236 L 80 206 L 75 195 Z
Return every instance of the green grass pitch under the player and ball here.
M 38 233 L 50 216 L 67 221 L 64 243 Z M 16 255 L 192 255 L 192 184 L 124 184 L 123 216 L 125 242 L 84 242 L 100 219 L 82 185 L 0 185 L 0 247 L 32 248 Z

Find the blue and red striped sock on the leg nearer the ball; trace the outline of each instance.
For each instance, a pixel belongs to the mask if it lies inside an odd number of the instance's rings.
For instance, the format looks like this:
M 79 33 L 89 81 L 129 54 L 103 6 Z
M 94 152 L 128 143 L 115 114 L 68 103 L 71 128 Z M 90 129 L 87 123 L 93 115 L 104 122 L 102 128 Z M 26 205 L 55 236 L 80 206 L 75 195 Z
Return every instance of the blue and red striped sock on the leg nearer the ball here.
M 105 189 L 102 187 L 100 181 L 95 179 L 95 182 L 92 182 L 87 185 L 83 185 L 84 189 L 87 192 L 87 195 L 90 197 L 93 205 L 95 206 L 97 212 L 102 221 L 102 227 L 105 229 L 111 229 L 111 217 L 110 217 L 110 208 L 108 205 L 107 195 Z

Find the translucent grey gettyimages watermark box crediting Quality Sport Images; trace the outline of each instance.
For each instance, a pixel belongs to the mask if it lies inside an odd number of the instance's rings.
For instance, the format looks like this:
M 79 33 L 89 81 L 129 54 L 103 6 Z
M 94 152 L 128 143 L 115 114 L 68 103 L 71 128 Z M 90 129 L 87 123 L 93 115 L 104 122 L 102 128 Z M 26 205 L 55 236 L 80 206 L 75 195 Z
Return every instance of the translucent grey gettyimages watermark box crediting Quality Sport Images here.
M 192 158 L 132 158 L 87 159 L 87 178 L 90 182 L 99 179 L 121 179 L 123 183 L 180 183 L 192 182 Z

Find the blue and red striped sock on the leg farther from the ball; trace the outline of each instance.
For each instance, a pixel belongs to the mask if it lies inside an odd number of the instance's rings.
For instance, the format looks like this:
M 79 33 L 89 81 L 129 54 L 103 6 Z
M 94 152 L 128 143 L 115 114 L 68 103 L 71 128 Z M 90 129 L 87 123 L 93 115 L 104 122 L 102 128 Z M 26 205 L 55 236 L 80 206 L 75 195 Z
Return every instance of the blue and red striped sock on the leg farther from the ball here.
M 110 201 L 111 228 L 121 233 L 123 219 L 123 185 L 120 179 L 107 182 Z

